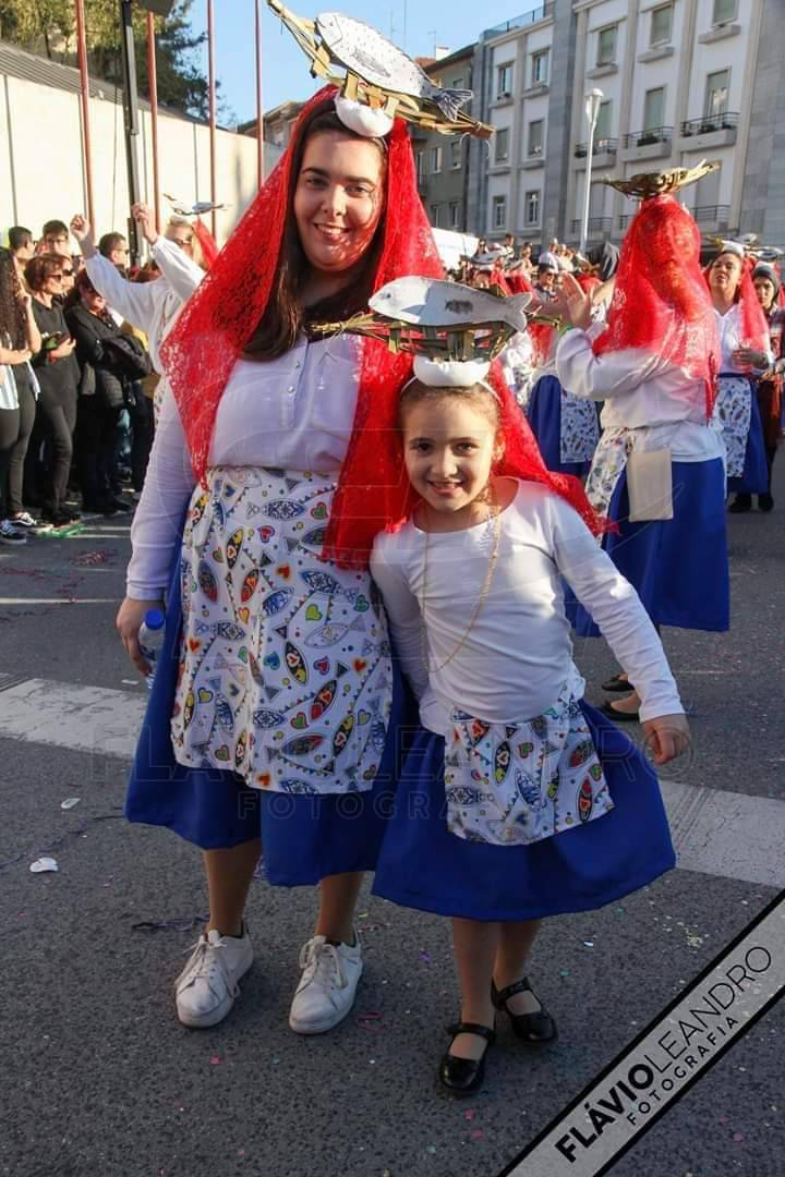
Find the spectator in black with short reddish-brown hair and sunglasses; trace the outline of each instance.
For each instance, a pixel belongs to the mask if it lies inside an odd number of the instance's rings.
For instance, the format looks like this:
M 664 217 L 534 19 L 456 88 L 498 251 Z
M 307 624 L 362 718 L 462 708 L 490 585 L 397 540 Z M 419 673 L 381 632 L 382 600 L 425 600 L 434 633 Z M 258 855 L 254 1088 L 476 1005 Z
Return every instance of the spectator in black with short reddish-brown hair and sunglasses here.
M 40 387 L 36 425 L 51 450 L 51 468 L 44 486 L 44 519 L 64 526 L 79 519 L 66 506 L 68 471 L 76 424 L 79 365 L 73 354 L 75 341 L 62 313 L 62 272 L 69 259 L 56 253 L 32 258 L 25 279 L 33 294 L 33 315 L 41 333 L 41 347 L 33 355 Z

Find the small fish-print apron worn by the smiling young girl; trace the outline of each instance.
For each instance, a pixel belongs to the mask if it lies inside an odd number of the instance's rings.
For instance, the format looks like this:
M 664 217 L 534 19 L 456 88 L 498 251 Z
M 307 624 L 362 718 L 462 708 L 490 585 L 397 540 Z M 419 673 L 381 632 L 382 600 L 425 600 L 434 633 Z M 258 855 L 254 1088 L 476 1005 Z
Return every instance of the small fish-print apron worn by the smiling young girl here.
M 447 829 L 500 846 L 540 842 L 613 809 L 578 701 L 583 679 L 553 706 L 518 724 L 490 724 L 453 709 L 445 742 Z

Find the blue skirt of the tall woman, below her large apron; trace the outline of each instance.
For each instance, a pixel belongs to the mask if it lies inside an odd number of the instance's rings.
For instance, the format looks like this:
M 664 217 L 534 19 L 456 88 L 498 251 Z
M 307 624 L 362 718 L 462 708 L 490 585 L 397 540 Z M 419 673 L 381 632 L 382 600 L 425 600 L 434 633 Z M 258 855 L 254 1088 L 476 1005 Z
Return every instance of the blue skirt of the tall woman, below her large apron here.
M 166 637 L 128 782 L 125 814 L 162 825 L 202 850 L 261 837 L 270 883 L 301 886 L 327 875 L 368 871 L 377 857 L 397 784 L 401 732 L 417 712 L 393 659 L 393 707 L 379 774 L 367 792 L 292 797 L 248 789 L 219 769 L 191 769 L 174 759 L 169 720 L 180 657 L 179 561 L 168 593 Z

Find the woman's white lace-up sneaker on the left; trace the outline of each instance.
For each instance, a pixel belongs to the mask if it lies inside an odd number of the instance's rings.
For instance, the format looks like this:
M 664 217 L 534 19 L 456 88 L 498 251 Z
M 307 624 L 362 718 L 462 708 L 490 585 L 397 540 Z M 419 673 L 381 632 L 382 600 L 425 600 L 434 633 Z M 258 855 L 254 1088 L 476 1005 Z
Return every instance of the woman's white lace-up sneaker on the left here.
M 178 1017 L 195 1030 L 222 1022 L 240 992 L 238 982 L 253 963 L 248 930 L 221 936 L 215 929 L 199 937 L 185 969 L 174 982 Z

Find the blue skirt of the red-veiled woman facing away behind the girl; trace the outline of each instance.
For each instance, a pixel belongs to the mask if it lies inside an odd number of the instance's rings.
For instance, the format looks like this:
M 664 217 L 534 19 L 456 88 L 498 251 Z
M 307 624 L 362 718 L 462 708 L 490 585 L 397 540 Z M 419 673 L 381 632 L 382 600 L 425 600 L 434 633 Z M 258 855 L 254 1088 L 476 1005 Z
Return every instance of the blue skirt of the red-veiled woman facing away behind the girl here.
M 673 518 L 630 523 L 626 471 L 608 514 L 619 524 L 603 546 L 652 621 L 683 630 L 729 629 L 731 616 L 725 470 L 721 458 L 673 463 Z M 599 629 L 565 586 L 567 617 L 581 638 Z

